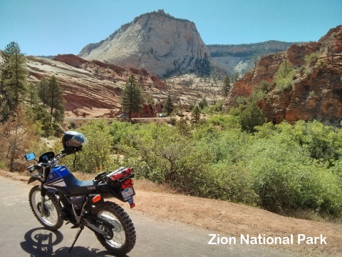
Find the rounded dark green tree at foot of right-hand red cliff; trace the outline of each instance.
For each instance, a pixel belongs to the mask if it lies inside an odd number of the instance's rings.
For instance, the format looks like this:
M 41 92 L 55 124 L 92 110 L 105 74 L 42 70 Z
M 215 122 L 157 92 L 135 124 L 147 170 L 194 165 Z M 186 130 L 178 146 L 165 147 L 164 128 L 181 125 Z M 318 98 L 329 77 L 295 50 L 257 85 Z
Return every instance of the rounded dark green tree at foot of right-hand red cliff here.
M 252 101 L 247 108 L 242 111 L 240 117 L 241 129 L 248 133 L 254 133 L 255 126 L 261 126 L 265 123 L 264 114 L 255 101 Z

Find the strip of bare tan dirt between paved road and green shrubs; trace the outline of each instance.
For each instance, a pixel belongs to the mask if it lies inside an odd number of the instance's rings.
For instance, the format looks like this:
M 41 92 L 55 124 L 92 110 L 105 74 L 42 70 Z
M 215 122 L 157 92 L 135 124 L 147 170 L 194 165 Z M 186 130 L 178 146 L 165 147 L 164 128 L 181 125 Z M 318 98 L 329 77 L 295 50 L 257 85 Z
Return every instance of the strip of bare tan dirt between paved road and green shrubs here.
M 23 183 L 28 180 L 28 176 L 24 176 L 24 173 L 0 171 L 0 175 Z M 342 226 L 339 224 L 288 218 L 236 203 L 175 193 L 160 193 L 159 189 L 146 191 L 146 187 L 142 184 L 140 181 L 135 181 L 135 211 L 206 228 L 212 233 L 219 233 L 221 237 L 234 236 L 238 243 L 241 235 L 258 237 L 260 234 L 265 235 L 264 237 L 284 238 L 292 234 L 294 235 L 292 245 L 267 246 L 285 249 L 298 256 L 342 256 Z M 170 191 L 170 188 L 168 190 L 166 188 L 166 191 Z M 306 244 L 305 241 L 298 244 L 299 234 L 304 234 L 306 238 L 322 235 L 323 238 L 326 237 L 326 244 L 320 244 L 320 240 L 317 244 Z M 208 236 L 208 241 L 209 239 Z

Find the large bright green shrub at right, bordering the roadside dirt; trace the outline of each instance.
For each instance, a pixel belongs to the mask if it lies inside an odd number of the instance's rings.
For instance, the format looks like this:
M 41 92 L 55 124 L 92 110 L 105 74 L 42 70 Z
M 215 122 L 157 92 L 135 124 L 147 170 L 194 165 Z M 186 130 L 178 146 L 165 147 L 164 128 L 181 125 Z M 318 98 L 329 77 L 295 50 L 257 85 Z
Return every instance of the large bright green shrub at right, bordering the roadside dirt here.
M 338 216 L 342 201 L 336 177 L 312 162 L 288 136 L 260 139 L 248 151 L 247 166 L 263 208 L 274 212 L 303 208 Z

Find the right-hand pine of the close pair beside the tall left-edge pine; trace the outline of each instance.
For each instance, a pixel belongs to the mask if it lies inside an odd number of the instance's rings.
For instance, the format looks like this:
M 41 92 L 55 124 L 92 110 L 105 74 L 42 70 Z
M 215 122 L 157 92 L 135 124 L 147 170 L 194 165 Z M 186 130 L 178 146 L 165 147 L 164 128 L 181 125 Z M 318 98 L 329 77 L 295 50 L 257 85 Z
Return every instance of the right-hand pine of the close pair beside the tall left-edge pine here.
M 56 122 L 61 122 L 64 119 L 64 99 L 63 89 L 55 76 L 48 80 L 48 88 L 46 91 L 46 106 L 50 111 L 50 126 L 52 118 Z

